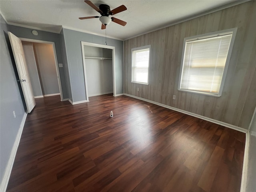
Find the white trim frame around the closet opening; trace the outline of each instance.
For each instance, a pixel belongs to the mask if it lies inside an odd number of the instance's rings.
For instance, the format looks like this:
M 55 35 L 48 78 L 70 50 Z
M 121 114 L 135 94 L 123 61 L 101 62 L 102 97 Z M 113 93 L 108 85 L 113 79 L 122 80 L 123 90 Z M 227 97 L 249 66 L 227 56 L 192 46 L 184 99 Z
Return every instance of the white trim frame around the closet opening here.
M 115 47 L 81 41 L 82 57 L 83 57 L 83 65 L 84 65 L 84 83 L 85 83 L 86 100 L 89 101 L 87 78 L 86 78 L 86 68 L 85 68 L 85 58 L 84 58 L 85 57 L 84 56 L 84 46 L 85 45 L 86 46 L 99 47 L 99 48 L 112 49 L 113 96 L 116 96 L 116 62 L 115 62 L 116 53 L 115 53 Z

